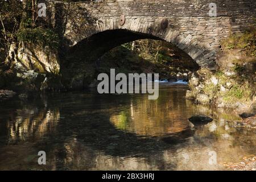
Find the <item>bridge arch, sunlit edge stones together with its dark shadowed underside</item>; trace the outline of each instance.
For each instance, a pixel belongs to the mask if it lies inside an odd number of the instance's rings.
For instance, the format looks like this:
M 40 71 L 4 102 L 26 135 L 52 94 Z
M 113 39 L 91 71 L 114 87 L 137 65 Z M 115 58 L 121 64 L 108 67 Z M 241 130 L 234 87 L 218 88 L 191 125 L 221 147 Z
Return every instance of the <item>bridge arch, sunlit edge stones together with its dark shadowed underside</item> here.
M 60 72 L 65 75 L 64 82 L 67 81 L 65 85 L 69 85 L 69 88 L 81 89 L 90 84 L 96 74 L 93 70 L 97 56 L 100 57 L 116 46 L 138 39 L 164 40 L 187 53 L 201 68 L 214 70 L 216 67 L 216 52 L 201 47 L 193 35 L 185 35 L 175 30 L 168 23 L 168 18 L 128 16 L 122 26 L 119 16 L 99 18 L 91 22 L 93 23 L 90 26 L 76 26 L 75 34 L 73 27 L 67 28 L 69 31 L 65 32 L 65 38 L 71 46 L 66 52 L 65 60 L 61 62 Z

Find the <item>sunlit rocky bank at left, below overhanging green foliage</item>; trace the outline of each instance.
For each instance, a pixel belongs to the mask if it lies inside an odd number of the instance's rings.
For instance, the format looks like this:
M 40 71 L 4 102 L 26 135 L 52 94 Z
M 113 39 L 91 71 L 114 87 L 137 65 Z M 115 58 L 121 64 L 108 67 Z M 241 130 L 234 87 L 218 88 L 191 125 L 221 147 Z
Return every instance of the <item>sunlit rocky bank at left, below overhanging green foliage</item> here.
M 0 65 L 0 88 L 22 94 L 64 89 L 59 66 L 55 51 L 30 43 L 13 43 L 9 56 Z

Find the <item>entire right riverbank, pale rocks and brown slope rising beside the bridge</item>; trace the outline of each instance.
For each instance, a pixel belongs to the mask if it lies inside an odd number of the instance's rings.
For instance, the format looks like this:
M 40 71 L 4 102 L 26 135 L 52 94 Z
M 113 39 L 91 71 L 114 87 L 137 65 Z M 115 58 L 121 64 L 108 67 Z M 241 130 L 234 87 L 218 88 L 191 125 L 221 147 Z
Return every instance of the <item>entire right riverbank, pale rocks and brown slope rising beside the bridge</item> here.
M 214 105 L 256 114 L 256 31 L 232 35 L 222 43 L 216 71 L 200 69 L 189 75 L 187 98 L 197 104 Z

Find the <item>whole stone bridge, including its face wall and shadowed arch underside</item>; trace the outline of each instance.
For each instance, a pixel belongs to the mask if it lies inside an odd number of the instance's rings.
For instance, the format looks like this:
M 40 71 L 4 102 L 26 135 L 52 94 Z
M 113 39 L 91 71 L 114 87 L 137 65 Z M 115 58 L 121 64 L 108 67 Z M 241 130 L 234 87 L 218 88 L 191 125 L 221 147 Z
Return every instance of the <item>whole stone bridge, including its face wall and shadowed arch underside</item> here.
M 86 63 L 120 44 L 146 38 L 170 42 L 200 67 L 215 69 L 222 39 L 244 31 L 256 18 L 254 0 L 98 0 L 54 4 L 55 26 L 68 45 L 63 67 L 73 71 L 88 69 L 90 65 Z

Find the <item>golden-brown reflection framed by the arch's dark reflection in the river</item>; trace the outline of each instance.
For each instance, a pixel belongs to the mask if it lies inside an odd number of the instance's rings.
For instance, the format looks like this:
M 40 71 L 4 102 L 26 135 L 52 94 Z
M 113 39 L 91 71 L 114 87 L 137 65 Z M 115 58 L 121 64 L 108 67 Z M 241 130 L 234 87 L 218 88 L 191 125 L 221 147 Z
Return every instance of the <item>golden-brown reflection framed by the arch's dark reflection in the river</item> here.
M 110 122 L 117 129 L 152 137 L 189 129 L 186 118 L 189 111 L 184 104 L 184 93 L 178 90 L 170 95 L 163 93 L 158 101 L 147 100 L 147 96 L 131 100 L 130 109 L 110 115 Z

